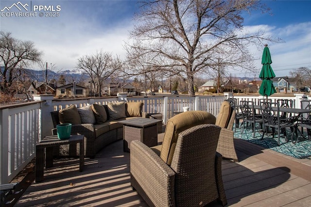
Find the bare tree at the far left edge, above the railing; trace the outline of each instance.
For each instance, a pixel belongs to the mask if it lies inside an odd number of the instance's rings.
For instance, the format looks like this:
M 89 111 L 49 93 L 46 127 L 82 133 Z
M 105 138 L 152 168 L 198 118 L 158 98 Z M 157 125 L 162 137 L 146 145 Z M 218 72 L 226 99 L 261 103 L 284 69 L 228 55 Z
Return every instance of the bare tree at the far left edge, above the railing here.
M 42 52 L 35 49 L 31 41 L 12 37 L 11 33 L 0 32 L 0 90 L 9 94 L 10 86 L 22 74 L 28 64 L 40 60 Z

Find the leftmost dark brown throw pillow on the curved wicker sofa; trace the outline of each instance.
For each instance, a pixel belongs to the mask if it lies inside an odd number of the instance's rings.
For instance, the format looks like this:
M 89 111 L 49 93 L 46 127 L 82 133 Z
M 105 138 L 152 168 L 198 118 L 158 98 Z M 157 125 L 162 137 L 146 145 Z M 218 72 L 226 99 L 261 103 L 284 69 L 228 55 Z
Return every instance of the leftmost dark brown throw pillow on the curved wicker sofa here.
M 81 124 L 80 115 L 75 105 L 59 110 L 58 117 L 60 123 Z

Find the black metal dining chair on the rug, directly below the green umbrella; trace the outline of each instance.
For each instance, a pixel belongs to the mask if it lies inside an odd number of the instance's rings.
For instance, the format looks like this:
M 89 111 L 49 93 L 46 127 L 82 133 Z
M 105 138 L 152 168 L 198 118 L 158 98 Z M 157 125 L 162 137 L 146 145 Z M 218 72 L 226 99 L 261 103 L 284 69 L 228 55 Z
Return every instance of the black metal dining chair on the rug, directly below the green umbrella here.
M 270 102 L 261 102 L 261 116 L 263 120 L 263 134 L 261 140 L 264 138 L 264 135 L 268 134 L 269 128 L 272 129 L 272 138 L 275 137 L 275 132 L 277 131 L 277 144 L 280 145 L 280 137 L 283 134 L 285 141 L 288 141 L 288 136 L 286 132 L 286 128 L 290 128 L 292 132 L 291 139 L 293 141 L 293 135 L 296 132 L 294 129 L 296 127 L 295 122 L 298 120 L 297 116 L 284 118 L 281 120 L 280 116 L 280 103 L 281 101 L 277 101 L 277 110 L 272 110 L 272 103 Z

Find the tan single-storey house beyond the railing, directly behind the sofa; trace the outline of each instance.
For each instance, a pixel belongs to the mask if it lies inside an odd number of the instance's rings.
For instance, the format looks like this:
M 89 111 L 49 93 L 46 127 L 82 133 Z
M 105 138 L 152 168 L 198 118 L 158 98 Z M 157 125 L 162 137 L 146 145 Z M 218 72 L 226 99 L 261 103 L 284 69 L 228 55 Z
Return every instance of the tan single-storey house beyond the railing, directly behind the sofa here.
M 67 84 L 65 86 L 60 86 L 56 88 L 56 97 L 87 97 L 89 93 L 89 89 L 84 86 L 76 85 L 75 94 L 74 84 Z

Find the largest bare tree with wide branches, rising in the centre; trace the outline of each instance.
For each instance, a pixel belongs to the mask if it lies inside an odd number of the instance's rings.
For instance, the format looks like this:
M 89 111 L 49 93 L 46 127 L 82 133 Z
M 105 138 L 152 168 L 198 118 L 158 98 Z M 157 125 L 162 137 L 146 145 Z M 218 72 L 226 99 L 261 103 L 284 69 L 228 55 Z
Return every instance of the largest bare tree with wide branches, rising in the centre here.
M 268 11 L 257 0 L 144 0 L 140 9 L 127 51 L 148 53 L 149 66 L 184 76 L 190 95 L 194 75 L 215 69 L 219 57 L 224 66 L 250 69 L 247 47 L 273 40 L 261 31 L 242 33 L 242 12 Z

